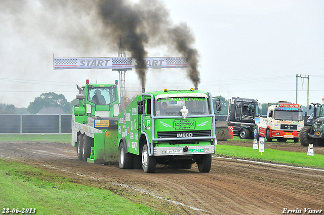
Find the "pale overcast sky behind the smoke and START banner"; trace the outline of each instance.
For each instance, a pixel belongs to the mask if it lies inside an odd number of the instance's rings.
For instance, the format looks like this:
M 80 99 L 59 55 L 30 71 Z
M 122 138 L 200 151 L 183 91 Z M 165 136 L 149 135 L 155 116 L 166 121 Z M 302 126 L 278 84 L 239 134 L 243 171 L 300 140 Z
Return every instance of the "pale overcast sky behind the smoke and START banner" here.
M 28 107 L 35 97 L 48 92 L 63 94 L 71 101 L 78 93 L 76 84 L 82 85 L 86 79 L 98 83 L 119 79 L 118 72 L 111 69 L 53 70 L 53 54 L 57 58 L 117 57 L 118 37 L 111 29 L 103 29 L 101 20 L 94 18 L 95 9 L 79 2 L 0 0 L 0 103 Z M 323 1 L 160 2 L 172 22 L 185 23 L 195 38 L 194 48 L 200 55 L 199 90 L 226 99 L 295 103 L 296 74 L 309 75 L 309 103 L 321 102 Z M 102 32 L 113 38 L 105 40 Z M 147 57 L 181 56 L 154 42 L 148 41 Z M 147 71 L 146 92 L 191 87 L 184 69 Z M 136 72 L 126 72 L 128 97 L 140 92 Z M 298 78 L 298 103 L 307 105 L 307 78 Z

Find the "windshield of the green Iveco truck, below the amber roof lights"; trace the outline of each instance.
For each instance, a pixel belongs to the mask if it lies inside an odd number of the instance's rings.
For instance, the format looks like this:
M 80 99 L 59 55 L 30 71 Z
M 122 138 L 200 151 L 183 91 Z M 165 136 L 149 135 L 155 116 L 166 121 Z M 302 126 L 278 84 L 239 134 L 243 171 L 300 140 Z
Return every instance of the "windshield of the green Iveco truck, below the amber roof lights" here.
M 181 97 L 155 100 L 155 116 L 179 116 L 183 106 L 188 109 L 187 116 L 210 114 L 207 98 Z

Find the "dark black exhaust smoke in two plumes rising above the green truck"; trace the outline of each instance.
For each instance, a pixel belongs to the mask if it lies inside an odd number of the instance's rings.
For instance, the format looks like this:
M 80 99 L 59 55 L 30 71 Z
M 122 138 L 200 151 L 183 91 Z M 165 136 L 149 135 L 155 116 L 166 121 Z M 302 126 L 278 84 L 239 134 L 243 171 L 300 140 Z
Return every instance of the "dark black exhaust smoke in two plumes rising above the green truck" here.
M 169 12 L 162 2 L 156 0 L 143 0 L 138 4 L 130 5 L 123 0 L 99 1 L 99 10 L 104 25 L 107 27 L 107 36 L 122 35 L 125 48 L 136 58 L 136 72 L 145 88 L 147 57 L 145 45 L 149 38 L 154 44 L 172 45 L 181 55 L 188 57 L 188 77 L 198 87 L 200 74 L 197 70 L 198 52 L 192 48 L 194 37 L 185 23 L 173 26 Z M 117 40 L 116 40 L 117 41 Z M 148 45 L 149 46 L 149 45 Z M 164 53 L 163 53 L 164 54 Z

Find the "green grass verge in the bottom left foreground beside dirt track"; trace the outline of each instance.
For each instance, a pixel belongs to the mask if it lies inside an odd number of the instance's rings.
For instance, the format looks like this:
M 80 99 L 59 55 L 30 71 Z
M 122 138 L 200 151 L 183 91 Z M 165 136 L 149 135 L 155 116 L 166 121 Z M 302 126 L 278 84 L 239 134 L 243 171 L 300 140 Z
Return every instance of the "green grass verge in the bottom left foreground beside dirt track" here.
M 0 187 L 2 212 L 3 208 L 36 208 L 36 214 L 162 214 L 109 190 L 3 159 Z

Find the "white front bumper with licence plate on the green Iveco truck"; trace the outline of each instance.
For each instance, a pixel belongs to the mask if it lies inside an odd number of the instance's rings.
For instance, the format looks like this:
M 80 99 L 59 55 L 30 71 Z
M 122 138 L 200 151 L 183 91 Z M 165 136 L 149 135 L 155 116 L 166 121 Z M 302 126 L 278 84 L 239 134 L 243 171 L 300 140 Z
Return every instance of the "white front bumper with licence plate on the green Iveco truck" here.
M 154 156 L 214 154 L 215 152 L 216 145 L 154 147 Z

